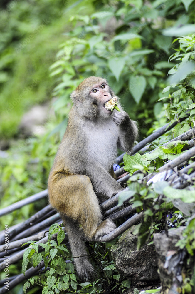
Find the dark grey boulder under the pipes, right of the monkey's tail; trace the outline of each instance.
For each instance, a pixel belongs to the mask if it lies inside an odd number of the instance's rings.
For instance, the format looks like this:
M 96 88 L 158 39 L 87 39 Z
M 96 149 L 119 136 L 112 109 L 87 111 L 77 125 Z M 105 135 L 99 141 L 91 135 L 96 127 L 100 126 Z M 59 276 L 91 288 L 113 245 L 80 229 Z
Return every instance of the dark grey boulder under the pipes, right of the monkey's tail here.
M 126 230 L 116 245 L 111 247 L 112 259 L 117 270 L 137 285 L 159 279 L 157 255 L 154 245 L 144 245 L 137 250 L 137 236 L 133 235 L 137 225 Z

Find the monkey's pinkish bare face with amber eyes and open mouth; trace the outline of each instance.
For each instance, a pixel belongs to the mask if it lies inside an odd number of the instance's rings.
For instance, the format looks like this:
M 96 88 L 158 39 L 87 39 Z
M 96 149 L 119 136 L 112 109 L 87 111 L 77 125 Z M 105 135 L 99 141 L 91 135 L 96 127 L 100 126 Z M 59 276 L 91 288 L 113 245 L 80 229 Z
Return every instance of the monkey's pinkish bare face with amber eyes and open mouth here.
M 110 87 L 107 83 L 103 82 L 101 84 L 94 85 L 89 93 L 90 97 L 93 98 L 93 103 L 98 106 L 100 115 L 109 116 L 112 114 L 110 110 L 107 110 L 104 105 L 105 103 L 112 99 L 110 94 Z

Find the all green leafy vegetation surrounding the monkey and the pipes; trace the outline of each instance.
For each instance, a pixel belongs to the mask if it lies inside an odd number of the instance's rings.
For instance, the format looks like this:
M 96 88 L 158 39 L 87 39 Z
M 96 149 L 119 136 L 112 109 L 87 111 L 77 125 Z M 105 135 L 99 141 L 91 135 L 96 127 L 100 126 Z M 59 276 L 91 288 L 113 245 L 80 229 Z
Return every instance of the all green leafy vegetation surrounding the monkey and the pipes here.
M 8 148 L 0 158 L 1 207 L 46 188 L 48 173 L 71 108 L 70 93 L 85 77 L 107 78 L 130 117 L 138 121 L 139 140 L 188 113 L 185 121 L 152 142 L 148 151 L 194 127 L 194 1 L 110 0 L 71 1 L 70 4 L 69 1 L 41 0 L 29 4 L 22 0 L 2 6 L 0 14 L 3 19 L 0 24 L 3 36 L 0 47 L 0 143 L 1 148 Z M 170 76 L 168 80 L 167 74 Z M 51 100 L 53 88 L 56 116 L 48 118 L 44 124 L 45 135 L 24 138 L 18 128 L 23 113 L 36 103 Z M 174 226 L 183 225 L 186 221 L 169 195 L 174 189 L 177 198 L 185 203 L 194 203 L 194 182 L 191 182 L 192 197 L 186 199 L 185 190 L 172 188 L 167 182 L 146 186 L 144 182 L 137 181 L 146 172 L 150 174 L 168 160 L 185 153 L 186 148 L 186 141 L 178 141 L 164 148 L 158 147 L 152 153 L 124 158 L 125 169 L 131 174 L 136 170 L 142 171 L 132 176 L 129 183 L 137 212 L 144 211 L 146 226 L 140 225 L 137 229 L 139 247 L 151 233 L 162 228 L 159 220 L 165 213 L 174 214 L 177 220 Z M 193 158 L 189 163 L 192 161 Z M 165 198 L 164 203 L 154 201 L 159 194 L 168 199 Z M 42 199 L 4 216 L 1 218 L 2 229 L 4 224 L 11 226 L 23 218 L 27 219 L 46 203 Z M 178 213 L 182 219 L 177 217 Z M 193 224 L 194 218 L 188 222 L 185 238 L 179 244 L 181 248 L 186 246 L 191 255 L 195 249 Z M 56 228 L 63 232 L 61 227 L 54 225 L 49 238 Z M 30 262 L 38 265 L 42 256 L 49 257 L 50 270 L 45 275 L 40 274 L 38 280 L 31 278 L 25 284 L 26 288 L 29 283 L 38 284 L 45 288 L 43 293 L 52 294 L 60 293 L 58 291 L 62 287 L 69 289 L 70 293 L 76 288 L 77 293 L 101 293 L 107 287 L 109 290 L 130 287 L 119 276 L 111 260 L 109 250 L 116 240 L 112 244 L 90 244 L 97 267 L 101 265 L 104 271 L 98 271 L 95 282 L 87 284 L 78 281 L 72 263 L 64 265 L 61 255 L 68 260 L 71 258 L 61 244 L 62 240 L 57 241 L 49 239 L 44 245 L 45 253 L 38 252 L 34 243 L 30 250 L 27 249 L 23 273 Z M 10 274 L 18 272 L 21 272 L 21 263 L 10 266 Z M 195 287 L 192 276 L 190 273 L 185 287 Z M 47 289 L 48 278 L 51 287 Z

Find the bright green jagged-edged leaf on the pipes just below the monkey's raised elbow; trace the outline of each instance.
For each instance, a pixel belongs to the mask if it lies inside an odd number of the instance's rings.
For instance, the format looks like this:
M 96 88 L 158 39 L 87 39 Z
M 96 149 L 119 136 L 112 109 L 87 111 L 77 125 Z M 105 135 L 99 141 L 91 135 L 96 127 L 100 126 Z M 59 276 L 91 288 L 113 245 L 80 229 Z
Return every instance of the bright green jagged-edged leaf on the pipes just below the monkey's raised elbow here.
M 146 160 L 145 156 L 139 153 L 132 156 L 125 154 L 123 160 L 125 164 L 124 169 L 128 171 L 130 175 L 132 175 L 134 171 L 143 169 L 143 167 L 148 167 L 150 164 L 150 161 Z

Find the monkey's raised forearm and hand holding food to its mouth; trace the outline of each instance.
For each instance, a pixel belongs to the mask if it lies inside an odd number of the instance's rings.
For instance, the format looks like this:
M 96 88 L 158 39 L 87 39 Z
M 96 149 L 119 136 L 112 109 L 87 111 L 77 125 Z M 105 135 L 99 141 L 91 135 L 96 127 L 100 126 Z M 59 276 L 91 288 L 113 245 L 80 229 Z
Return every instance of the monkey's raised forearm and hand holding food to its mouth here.
M 135 121 L 132 121 L 125 111 L 116 112 L 113 121 L 119 127 L 117 147 L 130 153 L 138 133 Z

